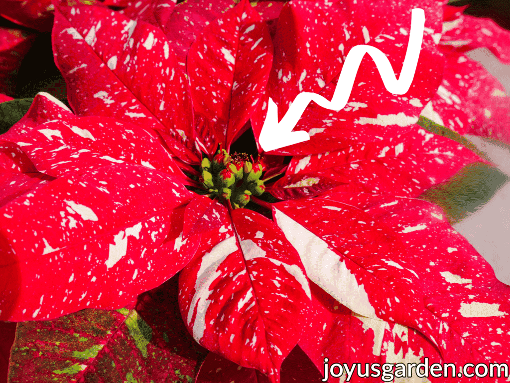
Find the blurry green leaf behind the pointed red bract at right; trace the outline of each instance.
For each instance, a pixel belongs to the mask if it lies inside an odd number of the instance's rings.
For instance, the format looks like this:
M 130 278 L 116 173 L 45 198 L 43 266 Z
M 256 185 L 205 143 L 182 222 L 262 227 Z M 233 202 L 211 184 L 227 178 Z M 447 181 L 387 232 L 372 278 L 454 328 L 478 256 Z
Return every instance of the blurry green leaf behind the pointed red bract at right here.
M 418 125 L 431 133 L 450 138 L 487 159 L 487 155 L 479 151 L 466 138 L 428 118 L 420 116 Z M 432 186 L 419 198 L 443 208 L 448 222 L 453 225 L 486 204 L 508 181 L 508 176 L 497 167 L 475 162 L 463 167 L 447 181 Z

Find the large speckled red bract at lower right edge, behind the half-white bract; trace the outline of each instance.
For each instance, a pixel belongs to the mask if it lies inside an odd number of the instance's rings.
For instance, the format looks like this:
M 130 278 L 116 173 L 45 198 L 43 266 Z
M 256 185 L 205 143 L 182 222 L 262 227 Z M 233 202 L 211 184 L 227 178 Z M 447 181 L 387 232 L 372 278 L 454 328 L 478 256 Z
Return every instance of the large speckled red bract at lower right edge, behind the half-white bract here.
M 414 270 L 424 287 L 423 303 L 441 318 L 445 333 L 461 337 L 473 358 L 508 360 L 510 286 L 496 279 L 492 267 L 448 224 L 441 210 L 409 198 L 365 194 L 332 198 L 349 200 L 409 241 Z M 447 340 L 441 342 L 445 351 L 452 346 Z M 462 361 L 461 355 L 451 358 Z

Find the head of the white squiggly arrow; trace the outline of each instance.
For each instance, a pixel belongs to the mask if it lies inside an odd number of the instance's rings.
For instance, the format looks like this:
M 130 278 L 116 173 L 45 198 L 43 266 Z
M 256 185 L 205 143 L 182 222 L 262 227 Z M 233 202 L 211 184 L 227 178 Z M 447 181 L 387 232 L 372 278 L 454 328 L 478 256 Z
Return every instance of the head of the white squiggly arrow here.
M 293 132 L 292 129 L 294 129 L 295 125 L 285 125 L 285 122 L 286 118 L 284 117 L 278 124 L 278 107 L 269 98 L 266 119 L 259 136 L 259 143 L 264 152 L 284 148 L 310 139 L 307 132 L 302 130 Z

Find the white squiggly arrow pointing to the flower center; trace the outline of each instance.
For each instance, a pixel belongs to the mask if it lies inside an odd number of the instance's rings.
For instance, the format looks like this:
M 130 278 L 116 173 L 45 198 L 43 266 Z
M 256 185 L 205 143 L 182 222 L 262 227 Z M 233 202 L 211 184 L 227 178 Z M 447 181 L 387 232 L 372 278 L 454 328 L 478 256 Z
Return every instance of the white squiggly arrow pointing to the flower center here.
M 393 67 L 384 53 L 370 45 L 356 45 L 352 47 L 345 58 L 338 83 L 333 93 L 331 101 L 317 93 L 301 92 L 299 93 L 291 107 L 285 113 L 282 120 L 278 123 L 278 107 L 274 101 L 269 98 L 266 119 L 262 126 L 259 137 L 259 143 L 265 152 L 283 148 L 294 143 L 308 141 L 310 136 L 305 131 L 293 132 L 299 118 L 307 108 L 310 101 L 315 101 L 323 108 L 329 110 L 340 110 L 345 107 L 354 86 L 354 79 L 358 74 L 361 61 L 368 53 L 375 62 L 379 75 L 385 88 L 394 94 L 404 94 L 411 87 L 413 78 L 418 65 L 421 43 L 423 41 L 423 29 L 425 26 L 425 12 L 421 8 L 414 8 L 411 13 L 411 32 L 409 34 L 409 43 L 405 52 L 404 63 L 400 77 L 397 80 Z M 342 86 L 339 86 L 339 85 Z

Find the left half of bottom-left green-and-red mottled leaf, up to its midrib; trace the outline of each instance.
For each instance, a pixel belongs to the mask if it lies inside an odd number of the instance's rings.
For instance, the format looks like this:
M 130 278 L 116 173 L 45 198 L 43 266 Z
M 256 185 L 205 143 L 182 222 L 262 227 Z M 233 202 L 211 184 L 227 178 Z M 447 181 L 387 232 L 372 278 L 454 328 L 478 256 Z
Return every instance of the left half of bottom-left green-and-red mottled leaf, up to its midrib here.
M 136 315 L 136 312 L 134 312 Z M 17 324 L 9 381 L 77 381 L 115 336 L 130 310 L 85 309 L 53 321 Z

